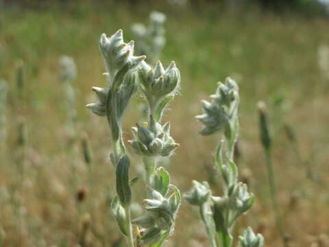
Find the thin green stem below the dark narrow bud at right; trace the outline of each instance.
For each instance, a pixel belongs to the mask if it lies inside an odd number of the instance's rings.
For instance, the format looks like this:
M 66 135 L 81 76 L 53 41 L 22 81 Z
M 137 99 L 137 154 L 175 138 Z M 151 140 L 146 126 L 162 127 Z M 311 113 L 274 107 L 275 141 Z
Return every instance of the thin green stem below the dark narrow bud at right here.
M 269 179 L 269 189 L 271 192 L 271 201 L 273 205 L 273 210 L 276 217 L 276 226 L 278 227 L 278 231 L 284 241 L 284 226 L 282 224 L 282 219 L 279 211 L 278 204 L 278 195 L 276 191 L 276 180 L 273 172 L 273 165 L 271 160 L 271 150 L 269 148 L 265 148 L 265 158 L 266 158 L 266 167 L 267 167 L 267 176 Z

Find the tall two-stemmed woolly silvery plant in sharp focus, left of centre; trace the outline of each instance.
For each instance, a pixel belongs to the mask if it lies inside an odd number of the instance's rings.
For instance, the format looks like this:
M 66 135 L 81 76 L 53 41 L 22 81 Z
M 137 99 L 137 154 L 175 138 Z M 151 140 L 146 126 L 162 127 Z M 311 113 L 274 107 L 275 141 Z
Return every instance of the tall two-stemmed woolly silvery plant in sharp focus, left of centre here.
M 117 187 L 117 195 L 111 204 L 112 213 L 121 233 L 127 237 L 128 245 L 134 246 L 130 207 L 131 186 L 137 179 L 129 179 L 130 158 L 126 154 L 121 121 L 130 98 L 140 89 L 149 102 L 150 117 L 143 126 L 133 128 L 136 140 L 130 141 L 133 150 L 145 161 L 148 190 L 145 214 L 134 220 L 134 224 L 139 226 L 136 246 L 161 246 L 173 233 L 180 191 L 170 184 L 169 173 L 163 167 L 156 167 L 157 156 L 169 156 L 178 146 L 170 137 L 169 124 L 160 124 L 160 119 L 180 84 L 180 74 L 174 63 L 164 70 L 160 62 L 155 73 L 156 70 L 143 61 L 145 56 L 134 56 L 133 41 L 123 42 L 122 30 L 110 37 L 102 34 L 99 49 L 105 61 L 108 87 L 93 87 L 99 102 L 87 107 L 93 113 L 106 117 L 110 127 L 113 150 L 110 158 L 116 167 Z M 151 95 L 154 92 L 157 94 Z

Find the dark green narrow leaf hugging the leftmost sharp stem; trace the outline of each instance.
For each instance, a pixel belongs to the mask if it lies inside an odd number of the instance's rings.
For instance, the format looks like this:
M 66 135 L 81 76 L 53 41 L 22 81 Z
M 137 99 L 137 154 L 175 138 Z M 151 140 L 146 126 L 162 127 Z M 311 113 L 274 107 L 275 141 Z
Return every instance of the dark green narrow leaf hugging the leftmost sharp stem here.
M 129 184 L 129 166 L 130 160 L 127 154 L 121 156 L 117 165 L 117 193 L 123 207 L 130 205 L 132 201 L 132 191 Z

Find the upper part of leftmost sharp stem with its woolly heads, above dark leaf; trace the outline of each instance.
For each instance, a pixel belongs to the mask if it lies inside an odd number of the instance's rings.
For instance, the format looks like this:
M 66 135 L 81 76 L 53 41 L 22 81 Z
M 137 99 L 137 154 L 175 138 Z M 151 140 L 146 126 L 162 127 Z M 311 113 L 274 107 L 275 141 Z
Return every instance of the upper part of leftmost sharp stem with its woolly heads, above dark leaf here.
M 122 30 L 109 38 L 102 34 L 99 49 L 106 67 L 108 87 L 93 87 L 99 102 L 88 104 L 93 113 L 108 119 L 112 137 L 113 153 L 111 161 L 114 166 L 125 153 L 122 141 L 121 119 L 130 98 L 136 91 L 136 68 L 146 57 L 134 56 L 134 41 L 123 42 Z

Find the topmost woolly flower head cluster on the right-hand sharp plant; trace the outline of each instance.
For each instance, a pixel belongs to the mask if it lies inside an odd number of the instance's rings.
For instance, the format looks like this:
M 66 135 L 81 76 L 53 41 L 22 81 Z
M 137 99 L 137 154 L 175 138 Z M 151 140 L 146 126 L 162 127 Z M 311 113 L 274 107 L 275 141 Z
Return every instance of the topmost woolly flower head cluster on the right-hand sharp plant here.
M 239 87 L 234 80 L 226 78 L 219 82 L 215 95 L 210 95 L 211 102 L 202 101 L 204 114 L 196 118 L 204 124 L 201 134 L 208 135 L 223 130 L 237 117 L 239 105 Z

